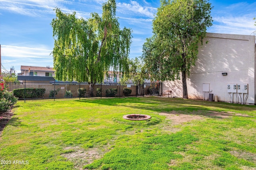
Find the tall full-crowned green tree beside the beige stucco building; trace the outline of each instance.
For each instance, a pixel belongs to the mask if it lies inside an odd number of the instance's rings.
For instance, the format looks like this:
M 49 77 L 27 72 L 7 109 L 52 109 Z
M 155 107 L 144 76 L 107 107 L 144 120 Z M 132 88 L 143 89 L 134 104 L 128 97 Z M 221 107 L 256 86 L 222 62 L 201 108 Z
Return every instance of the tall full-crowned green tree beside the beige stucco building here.
M 153 20 L 153 36 L 143 45 L 143 58 L 150 75 L 159 80 L 180 79 L 183 98 L 188 98 L 186 76 L 195 65 L 198 43 L 212 26 L 208 0 L 161 0 Z

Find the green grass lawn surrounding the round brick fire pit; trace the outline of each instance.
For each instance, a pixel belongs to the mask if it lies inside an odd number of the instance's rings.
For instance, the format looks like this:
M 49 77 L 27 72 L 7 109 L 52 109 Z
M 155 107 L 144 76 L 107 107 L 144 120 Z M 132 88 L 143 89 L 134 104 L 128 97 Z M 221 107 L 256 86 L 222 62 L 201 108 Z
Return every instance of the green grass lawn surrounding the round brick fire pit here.
M 123 115 L 146 114 L 147 121 Z M 18 103 L 1 170 L 256 170 L 256 106 L 144 97 Z

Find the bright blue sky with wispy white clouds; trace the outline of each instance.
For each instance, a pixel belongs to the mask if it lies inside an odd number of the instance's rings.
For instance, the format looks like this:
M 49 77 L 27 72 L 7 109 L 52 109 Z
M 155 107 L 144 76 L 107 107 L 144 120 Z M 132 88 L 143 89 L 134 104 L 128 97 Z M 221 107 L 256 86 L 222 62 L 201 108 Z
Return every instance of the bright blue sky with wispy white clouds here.
M 13 65 L 53 67 L 50 55 L 54 39 L 50 23 L 55 18 L 54 8 L 62 12 L 76 11 L 78 18 L 90 18 L 91 12 L 102 13 L 106 0 L 0 0 L 0 44 L 2 66 Z M 253 35 L 256 17 L 255 0 L 209 0 L 213 26 L 207 32 Z M 130 58 L 142 55 L 142 45 L 152 36 L 152 19 L 160 0 L 116 0 L 116 16 L 120 27 L 132 28 Z M 2 67 L 2 71 L 4 71 Z

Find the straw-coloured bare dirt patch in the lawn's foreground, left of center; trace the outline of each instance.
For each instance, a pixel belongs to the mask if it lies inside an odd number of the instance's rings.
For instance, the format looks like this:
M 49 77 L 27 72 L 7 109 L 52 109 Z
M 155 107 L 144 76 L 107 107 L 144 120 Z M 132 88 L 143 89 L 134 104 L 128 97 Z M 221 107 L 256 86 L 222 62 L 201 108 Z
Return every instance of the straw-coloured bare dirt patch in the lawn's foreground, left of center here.
M 66 147 L 64 150 L 74 150 L 73 152 L 62 154 L 62 156 L 74 162 L 74 168 L 77 170 L 83 170 L 84 165 L 92 163 L 92 161 L 101 158 L 104 154 L 98 148 L 85 150 L 80 146 Z

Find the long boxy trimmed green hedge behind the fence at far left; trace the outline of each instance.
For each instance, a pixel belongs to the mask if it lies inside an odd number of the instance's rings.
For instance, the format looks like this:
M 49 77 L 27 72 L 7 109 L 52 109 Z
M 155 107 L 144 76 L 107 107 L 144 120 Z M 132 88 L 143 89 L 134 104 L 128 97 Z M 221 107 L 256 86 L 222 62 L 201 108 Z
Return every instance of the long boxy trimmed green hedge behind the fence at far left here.
M 26 92 L 26 94 L 25 94 Z M 14 89 L 13 94 L 14 96 L 18 97 L 19 99 L 32 99 L 32 98 L 42 98 L 46 89 L 44 88 L 26 88 L 26 89 Z

